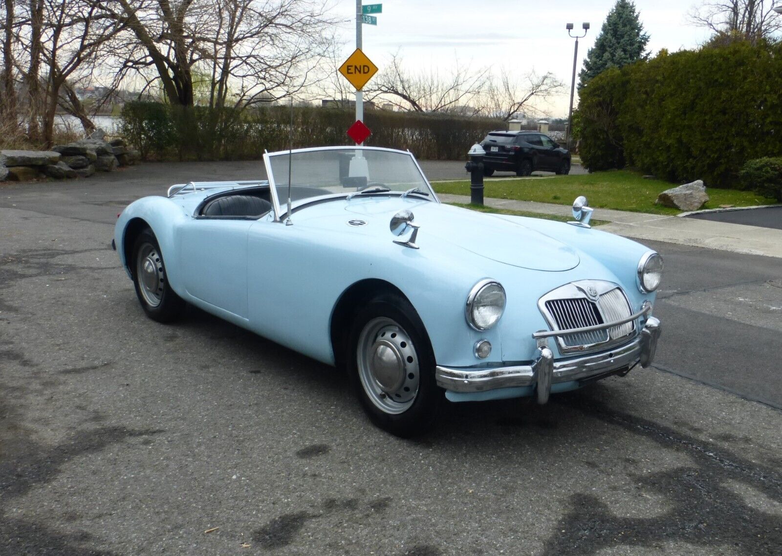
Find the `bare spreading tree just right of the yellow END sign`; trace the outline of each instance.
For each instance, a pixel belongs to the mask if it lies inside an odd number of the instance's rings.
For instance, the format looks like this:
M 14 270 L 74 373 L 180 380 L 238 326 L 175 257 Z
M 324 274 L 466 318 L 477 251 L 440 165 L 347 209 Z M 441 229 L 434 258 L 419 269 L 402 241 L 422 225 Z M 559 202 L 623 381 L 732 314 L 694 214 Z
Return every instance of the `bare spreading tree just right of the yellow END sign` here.
M 391 63 L 364 88 L 371 100 L 384 99 L 404 110 L 414 112 L 447 112 L 457 106 L 468 106 L 486 86 L 490 67 L 472 70 L 469 64 L 457 63 L 453 70 L 413 73 L 404 67 L 397 52 Z

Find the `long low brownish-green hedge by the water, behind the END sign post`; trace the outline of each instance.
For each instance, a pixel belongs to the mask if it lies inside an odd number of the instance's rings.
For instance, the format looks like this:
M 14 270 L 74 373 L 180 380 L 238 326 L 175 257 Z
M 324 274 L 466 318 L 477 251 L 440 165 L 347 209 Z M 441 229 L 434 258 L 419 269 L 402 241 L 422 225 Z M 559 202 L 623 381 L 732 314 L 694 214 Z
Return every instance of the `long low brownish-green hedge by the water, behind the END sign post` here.
M 290 108 L 183 108 L 157 102 L 128 102 L 120 132 L 145 160 L 253 160 L 268 151 L 288 149 Z M 346 130 L 353 109 L 295 107 L 293 147 L 352 145 Z M 429 160 L 464 160 L 470 146 L 488 131 L 504 129 L 501 120 L 366 110 L 372 135 L 365 145 L 410 149 Z

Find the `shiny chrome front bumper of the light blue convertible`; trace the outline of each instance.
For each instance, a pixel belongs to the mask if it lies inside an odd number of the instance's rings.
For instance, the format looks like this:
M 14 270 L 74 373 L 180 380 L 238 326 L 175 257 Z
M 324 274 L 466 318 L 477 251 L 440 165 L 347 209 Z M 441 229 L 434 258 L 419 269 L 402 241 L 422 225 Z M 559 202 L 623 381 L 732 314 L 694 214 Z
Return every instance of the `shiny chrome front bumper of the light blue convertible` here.
M 654 320 L 657 321 L 657 319 Z M 659 330 L 658 323 L 659 321 L 657 321 L 656 325 L 658 327 L 656 328 L 657 330 Z M 654 336 L 655 333 L 649 332 L 649 334 Z M 437 365 L 435 373 L 437 385 L 458 393 L 483 392 L 485 390 L 517 386 L 534 386 L 538 383 L 541 372 L 546 372 L 542 369 L 549 364 L 547 357 L 543 357 L 543 353 L 546 350 L 551 351 L 547 347 L 540 348 L 538 350 L 539 357 L 530 365 L 477 369 L 448 368 Z M 554 361 L 551 371 L 551 383 L 557 384 L 558 382 L 590 378 L 624 367 L 630 367 L 638 361 L 644 361 L 644 359 L 647 360 L 648 365 L 651 364 L 649 356 L 654 357 L 654 353 L 647 351 L 647 345 L 644 343 L 644 340 L 636 338 L 615 350 Z

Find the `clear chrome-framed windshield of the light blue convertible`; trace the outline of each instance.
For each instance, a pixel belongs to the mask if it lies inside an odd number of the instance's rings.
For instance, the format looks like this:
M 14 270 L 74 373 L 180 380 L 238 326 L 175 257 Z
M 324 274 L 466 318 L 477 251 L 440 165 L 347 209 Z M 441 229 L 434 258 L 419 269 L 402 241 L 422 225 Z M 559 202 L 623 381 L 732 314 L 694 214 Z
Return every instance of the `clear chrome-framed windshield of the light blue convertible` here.
M 418 188 L 431 193 L 421 170 L 407 152 L 375 149 L 314 149 L 274 152 L 269 166 L 280 204 L 322 195 L 406 192 Z

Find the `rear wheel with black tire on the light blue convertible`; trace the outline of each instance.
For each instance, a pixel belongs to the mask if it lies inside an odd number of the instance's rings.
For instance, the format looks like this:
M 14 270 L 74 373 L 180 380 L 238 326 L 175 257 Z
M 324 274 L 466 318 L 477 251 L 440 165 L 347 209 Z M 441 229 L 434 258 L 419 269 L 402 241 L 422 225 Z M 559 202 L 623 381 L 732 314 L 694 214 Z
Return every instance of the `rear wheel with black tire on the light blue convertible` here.
M 128 267 L 144 312 L 153 321 L 176 320 L 185 307 L 185 301 L 168 284 L 163 253 L 152 230 L 146 228 L 138 234 L 131 253 Z

